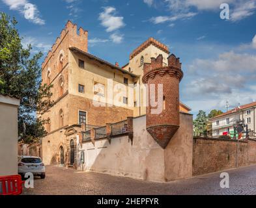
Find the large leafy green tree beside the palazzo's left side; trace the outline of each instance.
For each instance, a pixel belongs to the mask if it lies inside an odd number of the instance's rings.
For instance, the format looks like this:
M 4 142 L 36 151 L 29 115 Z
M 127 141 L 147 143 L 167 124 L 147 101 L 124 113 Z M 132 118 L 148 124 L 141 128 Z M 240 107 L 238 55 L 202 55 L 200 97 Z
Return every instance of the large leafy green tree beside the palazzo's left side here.
M 40 116 L 53 105 L 51 86 L 41 85 L 38 61 L 42 53 L 31 54 L 31 45 L 24 48 L 16 29 L 17 21 L 1 12 L 0 16 L 0 93 L 20 98 L 18 135 L 25 143 L 46 135 Z M 37 116 L 36 116 L 37 115 Z

